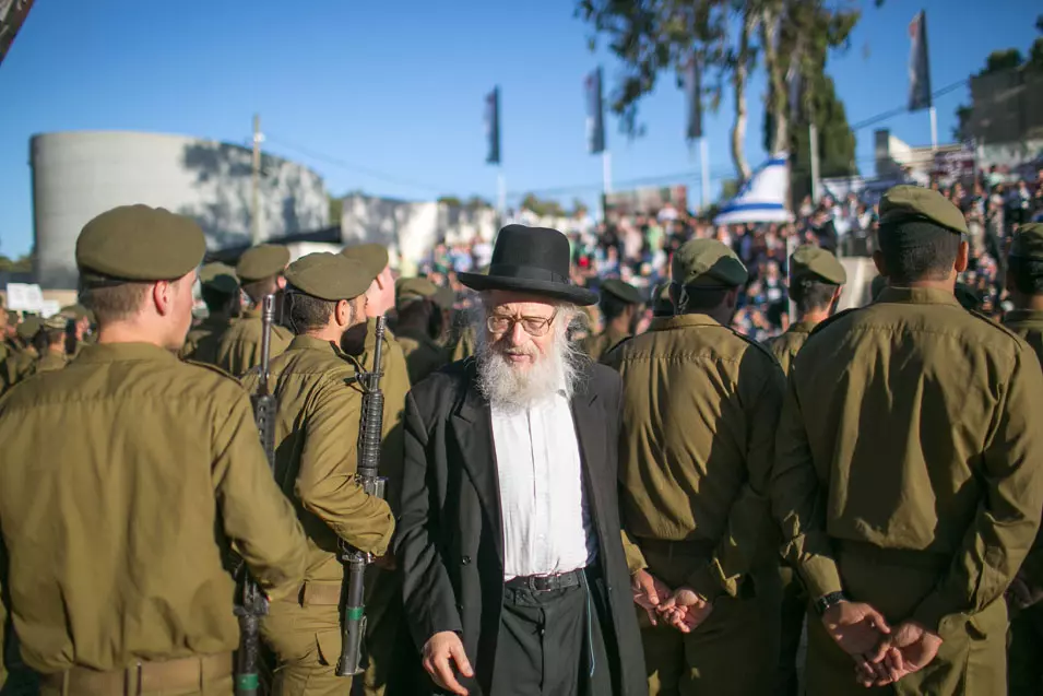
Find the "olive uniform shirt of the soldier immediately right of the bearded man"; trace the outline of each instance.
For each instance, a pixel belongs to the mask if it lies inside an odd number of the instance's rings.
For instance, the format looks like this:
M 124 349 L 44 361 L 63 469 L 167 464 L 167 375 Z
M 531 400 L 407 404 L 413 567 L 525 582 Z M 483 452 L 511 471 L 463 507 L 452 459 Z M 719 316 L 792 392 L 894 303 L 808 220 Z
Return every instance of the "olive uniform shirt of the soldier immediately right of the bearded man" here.
M 768 485 L 782 370 L 762 346 L 706 315 L 656 318 L 608 354 L 624 382 L 620 510 L 629 540 L 715 545 L 689 586 L 735 595 L 774 563 Z M 631 571 L 643 558 L 626 544 Z

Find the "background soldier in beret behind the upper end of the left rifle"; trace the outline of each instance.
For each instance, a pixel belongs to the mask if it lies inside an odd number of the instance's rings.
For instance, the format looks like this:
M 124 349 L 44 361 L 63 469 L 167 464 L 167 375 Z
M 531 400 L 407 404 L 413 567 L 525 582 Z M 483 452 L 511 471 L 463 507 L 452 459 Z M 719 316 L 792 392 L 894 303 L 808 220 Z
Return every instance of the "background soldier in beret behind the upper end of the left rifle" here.
M 236 275 L 242 292 L 250 298 L 250 308 L 221 337 L 217 343 L 217 367 L 242 376 L 261 362 L 261 309 L 265 295 L 286 286 L 283 271 L 289 263 L 289 250 L 275 244 L 262 244 L 248 249 L 236 264 Z M 272 327 L 272 356 L 286 350 L 293 338 L 284 327 Z

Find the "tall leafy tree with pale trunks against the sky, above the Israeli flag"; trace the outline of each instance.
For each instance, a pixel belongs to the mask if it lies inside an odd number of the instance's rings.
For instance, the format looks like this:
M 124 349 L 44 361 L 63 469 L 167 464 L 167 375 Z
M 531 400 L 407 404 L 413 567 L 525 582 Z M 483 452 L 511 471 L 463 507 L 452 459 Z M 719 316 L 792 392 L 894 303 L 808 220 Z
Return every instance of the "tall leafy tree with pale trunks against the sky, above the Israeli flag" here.
M 674 70 L 679 75 L 695 58 L 711 111 L 720 105 L 724 82 L 731 82 L 732 160 L 743 180 L 750 175 L 744 150 L 746 89 L 760 57 L 769 78 L 769 149 L 781 150 L 790 141 L 785 75 L 794 44 L 799 37 L 807 44 L 797 55 L 801 73 L 808 76 L 813 68 L 825 66 L 829 49 L 846 47 L 860 17 L 854 0 L 829 7 L 826 0 L 579 0 L 578 14 L 593 26 L 595 36 L 607 37 L 624 63 L 611 106 L 631 135 L 643 131 L 637 125 L 638 103 L 654 89 L 661 73 Z M 804 34 L 819 30 L 823 31 L 820 36 Z

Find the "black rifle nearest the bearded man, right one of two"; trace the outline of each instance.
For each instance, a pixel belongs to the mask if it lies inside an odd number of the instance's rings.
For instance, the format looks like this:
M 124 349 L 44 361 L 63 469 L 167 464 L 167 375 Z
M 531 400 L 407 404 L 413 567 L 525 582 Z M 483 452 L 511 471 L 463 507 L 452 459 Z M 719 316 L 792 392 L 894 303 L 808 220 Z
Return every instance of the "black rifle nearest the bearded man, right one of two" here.
M 383 427 L 383 392 L 380 391 L 380 358 L 383 354 L 383 334 L 387 320 L 377 318 L 377 343 L 374 347 L 372 369 L 358 375 L 363 386 L 363 412 L 358 428 L 358 467 L 356 481 L 367 495 L 384 497 L 387 479 L 380 476 L 380 439 Z M 342 592 L 344 632 L 341 642 L 341 659 L 336 662 L 337 676 L 362 674 L 363 636 L 366 634 L 365 582 L 366 567 L 372 563 L 372 554 L 353 548 L 340 542 L 341 562 L 345 567 L 347 582 Z

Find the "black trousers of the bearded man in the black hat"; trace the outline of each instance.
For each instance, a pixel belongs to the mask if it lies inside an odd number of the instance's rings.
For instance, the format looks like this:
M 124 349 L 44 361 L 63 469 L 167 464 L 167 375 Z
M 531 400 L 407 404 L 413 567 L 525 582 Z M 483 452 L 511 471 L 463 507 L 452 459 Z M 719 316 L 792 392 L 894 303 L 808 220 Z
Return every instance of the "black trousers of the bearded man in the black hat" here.
M 612 626 L 600 578 L 549 592 L 505 587 L 491 696 L 618 693 L 619 665 L 606 649 Z

